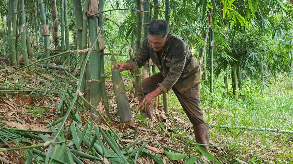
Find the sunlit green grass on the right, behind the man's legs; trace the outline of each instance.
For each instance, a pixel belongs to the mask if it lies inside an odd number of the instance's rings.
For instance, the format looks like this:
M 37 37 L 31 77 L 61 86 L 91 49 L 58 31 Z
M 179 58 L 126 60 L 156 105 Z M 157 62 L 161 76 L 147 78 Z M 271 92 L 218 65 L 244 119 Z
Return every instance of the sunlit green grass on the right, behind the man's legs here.
M 205 121 L 216 125 L 216 128 L 210 129 L 210 139 L 223 146 L 222 150 L 214 153 L 223 163 L 229 163 L 233 158 L 248 163 L 266 163 L 265 160 L 292 163 L 292 134 L 218 127 L 228 125 L 293 130 L 292 81 L 285 73 L 278 74 L 276 80 L 269 79 L 267 85 L 270 88 L 266 88 L 263 96 L 260 95 L 259 87 L 250 87 L 251 83 L 246 81 L 243 85 L 245 95 L 239 102 L 234 101 L 231 88 L 230 96 L 224 98 L 219 89 L 215 94 L 210 94 L 206 86 L 201 87 L 201 107 Z M 168 97 L 171 111 L 177 111 L 188 120 L 172 91 Z

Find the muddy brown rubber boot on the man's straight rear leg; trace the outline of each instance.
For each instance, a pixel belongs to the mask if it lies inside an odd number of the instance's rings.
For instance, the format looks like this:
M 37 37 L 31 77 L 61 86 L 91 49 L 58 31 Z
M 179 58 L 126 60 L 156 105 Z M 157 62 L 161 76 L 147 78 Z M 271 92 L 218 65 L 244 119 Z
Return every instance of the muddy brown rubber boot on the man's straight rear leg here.
M 195 140 L 198 144 L 209 144 L 209 124 L 193 125 Z M 200 145 L 209 151 L 208 146 Z

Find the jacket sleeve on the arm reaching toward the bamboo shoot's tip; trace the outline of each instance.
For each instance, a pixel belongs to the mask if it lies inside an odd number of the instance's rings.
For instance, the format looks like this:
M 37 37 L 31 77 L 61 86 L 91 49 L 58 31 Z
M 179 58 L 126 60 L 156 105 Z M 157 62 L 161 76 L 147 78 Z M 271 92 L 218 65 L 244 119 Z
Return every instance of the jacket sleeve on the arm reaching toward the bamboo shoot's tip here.
M 147 50 L 147 44 L 148 44 L 147 42 L 148 42 L 148 39 L 147 38 L 144 39 L 144 42 L 142 43 L 140 50 L 138 51 L 138 53 L 135 56 L 135 60 L 136 60 L 139 68 L 144 66 L 144 64 L 146 64 L 150 58 L 149 52 Z M 131 73 L 134 73 L 137 70 L 134 59 L 127 60 L 126 63 L 129 63 L 131 65 L 131 69 L 130 69 Z

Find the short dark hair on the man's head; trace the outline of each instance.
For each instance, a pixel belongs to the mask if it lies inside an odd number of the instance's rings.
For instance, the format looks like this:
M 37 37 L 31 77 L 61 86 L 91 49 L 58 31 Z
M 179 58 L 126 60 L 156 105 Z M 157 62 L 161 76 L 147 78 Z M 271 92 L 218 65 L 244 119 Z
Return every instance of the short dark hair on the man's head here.
M 161 20 L 161 19 L 153 19 L 151 22 L 149 22 L 149 25 L 147 27 L 147 32 L 151 36 L 157 36 L 161 35 L 164 38 L 167 37 L 169 34 L 169 25 L 166 20 Z

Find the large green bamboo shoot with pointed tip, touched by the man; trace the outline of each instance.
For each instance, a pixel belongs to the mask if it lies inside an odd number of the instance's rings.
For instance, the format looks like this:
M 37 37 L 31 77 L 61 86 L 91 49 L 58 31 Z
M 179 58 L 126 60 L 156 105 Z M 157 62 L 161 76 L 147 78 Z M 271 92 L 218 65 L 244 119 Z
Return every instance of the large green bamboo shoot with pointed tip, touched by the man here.
M 112 81 L 120 121 L 122 123 L 129 122 L 132 119 L 131 108 L 128 102 L 125 86 L 120 71 L 117 67 L 114 55 L 112 55 Z

